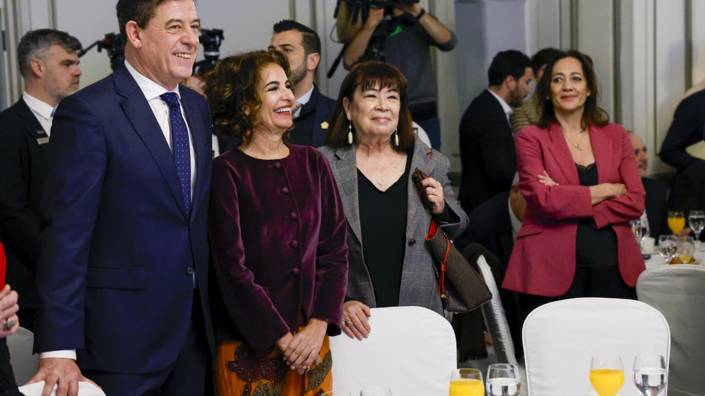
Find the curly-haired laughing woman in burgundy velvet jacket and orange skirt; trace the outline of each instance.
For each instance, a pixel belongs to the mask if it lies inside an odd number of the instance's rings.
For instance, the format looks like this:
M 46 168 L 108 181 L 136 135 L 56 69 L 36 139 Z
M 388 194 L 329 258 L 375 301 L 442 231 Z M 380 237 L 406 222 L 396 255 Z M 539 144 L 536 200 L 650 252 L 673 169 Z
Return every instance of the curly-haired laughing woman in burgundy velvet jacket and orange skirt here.
M 220 61 L 206 84 L 214 129 L 242 139 L 214 160 L 209 204 L 220 395 L 331 390 L 345 215 L 326 157 L 283 142 L 289 74 L 280 52 L 250 52 Z

